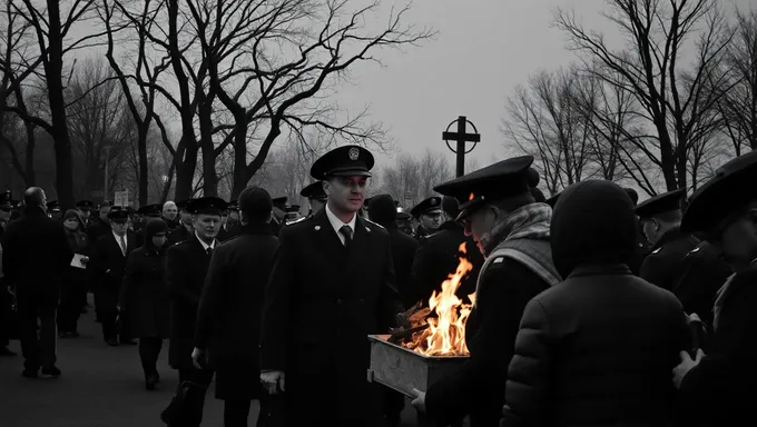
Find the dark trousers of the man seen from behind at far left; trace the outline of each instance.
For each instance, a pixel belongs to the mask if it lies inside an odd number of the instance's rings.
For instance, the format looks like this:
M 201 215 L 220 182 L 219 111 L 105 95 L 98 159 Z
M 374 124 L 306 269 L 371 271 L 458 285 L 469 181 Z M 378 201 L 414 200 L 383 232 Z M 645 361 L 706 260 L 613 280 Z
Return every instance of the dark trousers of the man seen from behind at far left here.
M 56 310 L 58 289 L 17 292 L 23 367 L 37 370 L 56 364 Z M 37 321 L 39 319 L 39 336 Z

